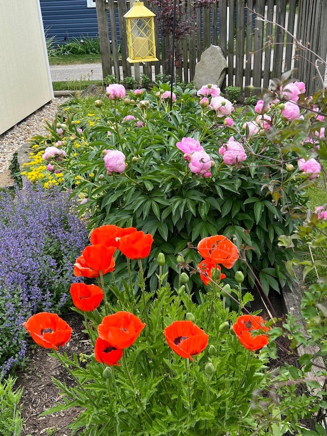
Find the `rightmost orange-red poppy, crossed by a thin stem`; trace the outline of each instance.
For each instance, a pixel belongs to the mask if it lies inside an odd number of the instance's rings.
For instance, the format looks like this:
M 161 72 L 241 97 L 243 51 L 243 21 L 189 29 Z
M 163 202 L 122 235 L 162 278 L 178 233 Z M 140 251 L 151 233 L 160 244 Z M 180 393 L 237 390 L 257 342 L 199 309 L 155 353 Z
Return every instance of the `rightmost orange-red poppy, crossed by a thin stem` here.
M 233 324 L 233 331 L 235 331 L 239 341 L 247 350 L 260 350 L 269 342 L 268 335 L 252 335 L 251 332 L 255 330 L 267 332 L 270 327 L 266 327 L 263 318 L 258 315 L 239 316 L 236 323 Z

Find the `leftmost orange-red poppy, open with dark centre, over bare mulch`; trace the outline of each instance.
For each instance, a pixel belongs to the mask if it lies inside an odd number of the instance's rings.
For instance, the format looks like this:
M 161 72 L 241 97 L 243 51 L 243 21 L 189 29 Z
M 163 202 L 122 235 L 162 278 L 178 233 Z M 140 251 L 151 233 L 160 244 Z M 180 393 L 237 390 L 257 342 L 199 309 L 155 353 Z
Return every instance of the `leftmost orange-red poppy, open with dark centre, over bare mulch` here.
M 72 328 L 56 313 L 40 312 L 31 316 L 23 326 L 33 340 L 43 348 L 63 347 L 71 339 Z

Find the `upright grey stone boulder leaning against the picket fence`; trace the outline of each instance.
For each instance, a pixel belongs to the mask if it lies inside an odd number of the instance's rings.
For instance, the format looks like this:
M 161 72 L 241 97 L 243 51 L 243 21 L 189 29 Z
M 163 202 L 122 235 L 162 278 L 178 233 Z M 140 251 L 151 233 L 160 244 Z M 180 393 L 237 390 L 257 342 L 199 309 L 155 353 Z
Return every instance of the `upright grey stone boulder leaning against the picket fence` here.
M 221 86 L 228 65 L 219 45 L 211 45 L 206 49 L 199 62 L 195 65 L 194 85 L 201 88 L 208 83 Z

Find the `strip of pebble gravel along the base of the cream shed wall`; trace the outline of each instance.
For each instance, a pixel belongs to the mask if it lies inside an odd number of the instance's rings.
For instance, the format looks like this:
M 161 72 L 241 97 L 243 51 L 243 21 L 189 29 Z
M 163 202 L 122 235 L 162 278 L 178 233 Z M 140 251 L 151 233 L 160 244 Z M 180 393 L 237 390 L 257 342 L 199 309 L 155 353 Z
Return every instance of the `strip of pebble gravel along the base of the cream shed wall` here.
M 52 122 L 66 97 L 54 98 L 29 117 L 0 135 L 0 173 L 9 169 L 14 153 L 34 135 L 45 135 L 45 120 Z

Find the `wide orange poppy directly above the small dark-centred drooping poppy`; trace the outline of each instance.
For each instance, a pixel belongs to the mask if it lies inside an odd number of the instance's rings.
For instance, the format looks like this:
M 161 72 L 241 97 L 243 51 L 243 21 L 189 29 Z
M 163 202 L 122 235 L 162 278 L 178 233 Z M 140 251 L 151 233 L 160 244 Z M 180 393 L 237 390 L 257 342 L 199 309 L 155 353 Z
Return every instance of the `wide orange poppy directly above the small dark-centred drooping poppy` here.
M 144 329 L 141 319 L 130 312 L 116 312 L 105 316 L 98 326 L 101 339 L 106 340 L 112 347 L 124 349 L 130 347 Z

